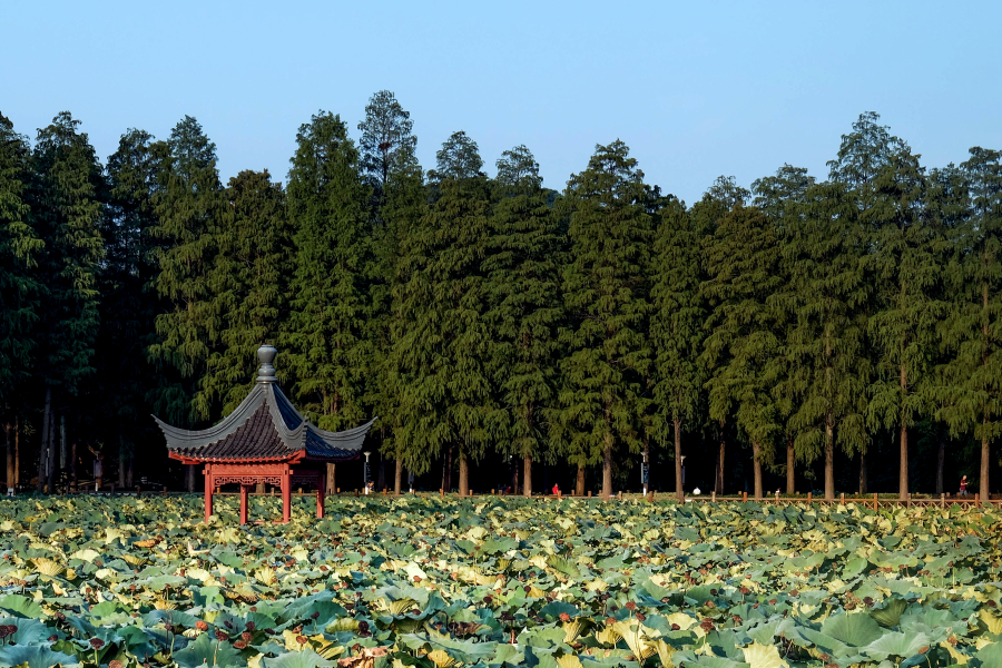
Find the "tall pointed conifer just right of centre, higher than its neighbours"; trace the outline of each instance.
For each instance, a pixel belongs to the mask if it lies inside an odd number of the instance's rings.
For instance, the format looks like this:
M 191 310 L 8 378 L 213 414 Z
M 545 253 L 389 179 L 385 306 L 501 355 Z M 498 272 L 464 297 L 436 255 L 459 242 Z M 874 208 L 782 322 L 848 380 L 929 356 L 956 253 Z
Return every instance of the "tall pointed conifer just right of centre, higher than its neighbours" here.
M 571 207 L 559 426 L 571 463 L 602 465 L 602 495 L 612 494 L 612 458 L 640 450 L 650 366 L 647 267 L 654 229 L 644 173 L 616 140 L 597 146 L 566 191 Z

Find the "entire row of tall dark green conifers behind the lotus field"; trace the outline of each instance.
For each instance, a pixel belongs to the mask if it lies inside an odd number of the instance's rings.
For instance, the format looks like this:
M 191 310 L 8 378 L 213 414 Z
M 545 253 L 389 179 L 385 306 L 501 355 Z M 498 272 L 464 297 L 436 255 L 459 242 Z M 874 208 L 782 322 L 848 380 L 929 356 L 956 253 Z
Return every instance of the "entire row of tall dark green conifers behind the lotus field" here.
M 419 165 L 410 115 L 375 94 L 350 136 L 320 111 L 285 185 L 223 184 L 191 117 L 129 129 L 101 165 L 61 112 L 31 143 L 0 115 L 0 410 L 7 480 L 53 490 L 82 448 L 131 485 L 163 462 L 149 412 L 200 428 L 245 396 L 255 350 L 323 429 L 381 416 L 379 448 L 442 487 L 491 456 L 600 474 L 627 453 L 763 471 L 836 454 L 867 487 L 891 435 L 910 491 L 917 431 L 975 445 L 989 490 L 1002 430 L 1002 160 L 972 148 L 929 169 L 863 114 L 828 177 L 784 165 L 718 178 L 687 206 L 599 145 L 557 191 L 518 146 L 483 171 L 454 132 Z M 734 456 L 734 455 L 731 455 Z M 980 460 L 978 458 L 980 456 Z M 691 460 L 690 460 L 691 461 Z M 995 462 L 995 465 L 998 462 Z M 731 464 L 729 464 L 731 465 Z M 194 471 L 187 471 L 194 489 Z M 980 485 L 980 487 L 979 487 Z M 538 491 L 538 490 L 537 490 Z

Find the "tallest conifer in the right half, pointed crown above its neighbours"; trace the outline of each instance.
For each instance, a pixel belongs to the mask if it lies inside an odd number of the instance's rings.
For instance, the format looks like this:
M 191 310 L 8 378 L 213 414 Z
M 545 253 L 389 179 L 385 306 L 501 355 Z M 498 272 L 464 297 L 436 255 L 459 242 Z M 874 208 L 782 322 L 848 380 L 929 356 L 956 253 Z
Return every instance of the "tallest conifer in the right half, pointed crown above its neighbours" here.
M 868 322 L 876 356 L 868 414 L 873 423 L 898 431 L 898 493 L 906 499 L 908 428 L 930 405 L 941 272 L 937 239 L 924 216 L 924 169 L 878 119 L 862 115 L 842 138 L 831 178 L 852 188 L 859 224 L 872 237 L 867 271 L 878 289 Z

